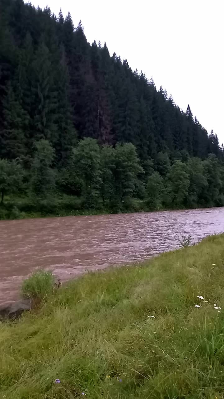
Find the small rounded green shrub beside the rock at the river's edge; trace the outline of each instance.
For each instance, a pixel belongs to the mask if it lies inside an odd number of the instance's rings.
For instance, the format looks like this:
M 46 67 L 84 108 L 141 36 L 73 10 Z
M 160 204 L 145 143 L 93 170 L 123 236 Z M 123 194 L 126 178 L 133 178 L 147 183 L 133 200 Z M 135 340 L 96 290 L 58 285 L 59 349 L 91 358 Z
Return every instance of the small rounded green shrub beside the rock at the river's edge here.
M 39 270 L 33 273 L 22 284 L 24 298 L 30 298 L 32 305 L 36 306 L 52 294 L 54 280 L 50 271 Z

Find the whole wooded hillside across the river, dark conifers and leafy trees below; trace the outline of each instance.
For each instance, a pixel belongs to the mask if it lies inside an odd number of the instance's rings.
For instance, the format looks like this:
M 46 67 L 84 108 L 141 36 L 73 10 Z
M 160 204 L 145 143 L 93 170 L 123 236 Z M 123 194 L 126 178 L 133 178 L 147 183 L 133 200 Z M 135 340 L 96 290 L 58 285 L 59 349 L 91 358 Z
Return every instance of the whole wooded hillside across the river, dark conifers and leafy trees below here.
M 224 152 L 70 14 L 0 0 L 0 203 L 2 219 L 222 206 Z

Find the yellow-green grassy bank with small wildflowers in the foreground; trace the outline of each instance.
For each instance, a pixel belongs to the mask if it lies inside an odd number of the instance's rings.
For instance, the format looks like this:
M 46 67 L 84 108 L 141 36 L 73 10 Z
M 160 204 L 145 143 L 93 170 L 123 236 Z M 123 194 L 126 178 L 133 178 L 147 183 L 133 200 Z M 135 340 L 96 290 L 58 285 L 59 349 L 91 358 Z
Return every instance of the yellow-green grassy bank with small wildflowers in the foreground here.
M 66 285 L 0 324 L 0 398 L 223 398 L 224 235 Z

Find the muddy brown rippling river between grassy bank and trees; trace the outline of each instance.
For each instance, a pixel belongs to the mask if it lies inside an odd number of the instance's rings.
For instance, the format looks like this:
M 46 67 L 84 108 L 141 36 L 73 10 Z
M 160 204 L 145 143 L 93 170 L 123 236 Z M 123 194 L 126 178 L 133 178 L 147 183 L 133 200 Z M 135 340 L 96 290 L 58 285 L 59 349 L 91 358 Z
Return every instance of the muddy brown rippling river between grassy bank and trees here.
M 84 271 L 143 261 L 224 231 L 224 207 L 0 221 L 0 304 L 18 299 L 22 280 L 38 268 L 68 280 Z

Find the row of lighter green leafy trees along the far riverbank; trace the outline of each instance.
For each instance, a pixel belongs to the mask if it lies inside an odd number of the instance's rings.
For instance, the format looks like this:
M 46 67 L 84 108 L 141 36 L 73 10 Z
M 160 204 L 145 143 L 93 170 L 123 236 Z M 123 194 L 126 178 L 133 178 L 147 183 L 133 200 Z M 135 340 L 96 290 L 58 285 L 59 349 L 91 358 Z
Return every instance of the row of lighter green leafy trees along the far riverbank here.
M 5 195 L 20 194 L 31 201 L 20 203 L 22 211 L 31 205 L 48 213 L 57 208 L 55 198 L 63 198 L 58 206 L 70 210 L 111 212 L 224 205 L 224 166 L 214 154 L 171 162 L 159 152 L 155 161 L 148 160 L 147 174 L 132 143 L 100 146 L 84 138 L 61 170 L 53 167 L 55 156 L 49 141 L 41 139 L 29 171 L 22 162 L 0 160 L 2 203 Z

